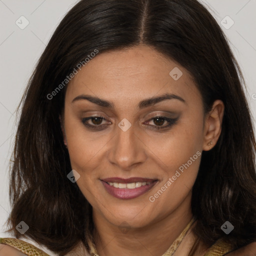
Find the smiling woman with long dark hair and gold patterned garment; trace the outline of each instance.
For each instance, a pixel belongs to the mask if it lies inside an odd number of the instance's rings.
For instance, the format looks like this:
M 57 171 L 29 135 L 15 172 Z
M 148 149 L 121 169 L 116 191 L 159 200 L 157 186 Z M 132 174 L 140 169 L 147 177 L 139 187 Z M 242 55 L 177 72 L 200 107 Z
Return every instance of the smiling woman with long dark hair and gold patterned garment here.
M 242 81 L 196 0 L 79 1 L 22 98 L 0 253 L 255 255 Z

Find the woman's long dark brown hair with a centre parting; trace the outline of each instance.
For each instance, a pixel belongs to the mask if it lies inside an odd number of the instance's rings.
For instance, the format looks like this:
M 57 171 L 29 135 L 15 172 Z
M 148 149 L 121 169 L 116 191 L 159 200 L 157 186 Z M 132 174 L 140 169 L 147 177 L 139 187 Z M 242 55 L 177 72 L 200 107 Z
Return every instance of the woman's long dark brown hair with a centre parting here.
M 60 256 L 91 239 L 91 206 L 66 177 L 71 166 L 59 115 L 65 88 L 47 95 L 95 49 L 98 54 L 144 44 L 187 69 L 205 113 L 225 105 L 221 135 L 203 151 L 192 189 L 198 241 L 226 237 L 234 247 L 256 241 L 255 138 L 239 66 L 220 26 L 196 0 L 81 0 L 67 12 L 43 51 L 22 97 L 10 177 L 8 223 Z M 225 234 L 228 220 L 234 229 Z

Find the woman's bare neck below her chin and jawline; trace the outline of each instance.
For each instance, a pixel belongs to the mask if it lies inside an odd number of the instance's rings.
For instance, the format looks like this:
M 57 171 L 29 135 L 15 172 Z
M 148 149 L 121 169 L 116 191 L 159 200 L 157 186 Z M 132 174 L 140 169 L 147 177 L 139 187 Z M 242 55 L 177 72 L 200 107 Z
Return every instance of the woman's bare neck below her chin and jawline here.
M 121 229 L 93 211 L 93 239 L 99 256 L 161 256 L 192 218 L 191 193 L 169 215 L 139 228 Z M 185 254 L 184 254 L 185 255 Z

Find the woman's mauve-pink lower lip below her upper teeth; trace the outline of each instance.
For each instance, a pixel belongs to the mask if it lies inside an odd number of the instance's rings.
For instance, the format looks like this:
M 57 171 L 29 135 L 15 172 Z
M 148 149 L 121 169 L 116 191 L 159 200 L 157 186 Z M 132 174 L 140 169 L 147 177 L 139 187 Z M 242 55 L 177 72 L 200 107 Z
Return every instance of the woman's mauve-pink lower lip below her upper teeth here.
M 136 197 L 146 193 L 149 189 L 151 189 L 157 183 L 157 180 L 155 180 L 150 184 L 130 189 L 130 188 L 114 187 L 114 186 L 109 185 L 108 183 L 106 183 L 103 180 L 100 180 L 100 181 L 109 194 L 111 194 L 112 196 L 119 198 L 119 199 L 136 198 Z

